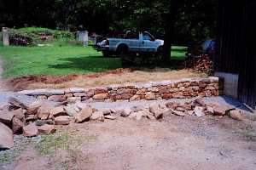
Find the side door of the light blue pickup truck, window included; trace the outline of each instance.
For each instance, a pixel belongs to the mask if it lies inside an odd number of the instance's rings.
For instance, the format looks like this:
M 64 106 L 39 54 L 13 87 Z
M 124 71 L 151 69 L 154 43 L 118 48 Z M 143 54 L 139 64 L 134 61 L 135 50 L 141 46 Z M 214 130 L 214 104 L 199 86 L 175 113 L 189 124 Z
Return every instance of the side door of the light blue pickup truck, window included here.
M 141 34 L 141 51 L 142 52 L 154 52 L 154 37 L 148 32 Z

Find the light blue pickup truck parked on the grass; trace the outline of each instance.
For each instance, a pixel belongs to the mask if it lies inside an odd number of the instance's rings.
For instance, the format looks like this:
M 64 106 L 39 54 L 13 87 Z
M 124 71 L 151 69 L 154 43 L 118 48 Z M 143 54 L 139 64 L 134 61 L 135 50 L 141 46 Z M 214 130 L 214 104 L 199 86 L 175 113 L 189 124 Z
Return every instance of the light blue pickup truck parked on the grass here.
M 123 38 L 106 38 L 94 45 L 104 56 L 124 54 L 160 54 L 164 41 L 155 39 L 149 32 L 126 31 Z

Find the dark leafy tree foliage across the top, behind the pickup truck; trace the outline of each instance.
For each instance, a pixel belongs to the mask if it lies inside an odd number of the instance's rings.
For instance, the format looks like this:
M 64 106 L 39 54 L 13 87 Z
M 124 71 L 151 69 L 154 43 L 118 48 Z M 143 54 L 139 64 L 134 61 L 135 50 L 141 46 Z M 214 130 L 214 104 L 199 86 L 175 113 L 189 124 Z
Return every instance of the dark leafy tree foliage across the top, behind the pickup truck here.
M 99 34 L 125 29 L 164 37 L 174 25 L 172 42 L 185 44 L 214 36 L 217 0 L 0 0 L 0 26 L 42 26 Z M 50 5 L 49 5 L 50 4 Z M 172 22 L 175 20 L 175 22 Z M 38 28 L 37 31 L 40 29 Z M 24 30 L 20 30 L 24 31 Z M 33 29 L 26 29 L 35 31 Z M 49 31 L 42 29 L 41 31 Z

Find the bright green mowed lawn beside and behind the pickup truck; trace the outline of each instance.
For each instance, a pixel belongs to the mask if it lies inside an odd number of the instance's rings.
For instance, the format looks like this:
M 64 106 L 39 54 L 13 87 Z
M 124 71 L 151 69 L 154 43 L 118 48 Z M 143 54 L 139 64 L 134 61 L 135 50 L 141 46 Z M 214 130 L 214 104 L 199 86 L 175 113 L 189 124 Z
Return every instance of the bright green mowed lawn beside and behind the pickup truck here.
M 184 59 L 184 47 L 173 47 L 173 59 Z M 108 71 L 121 67 L 120 59 L 104 58 L 91 47 L 0 47 L 3 77 L 26 75 L 67 75 Z

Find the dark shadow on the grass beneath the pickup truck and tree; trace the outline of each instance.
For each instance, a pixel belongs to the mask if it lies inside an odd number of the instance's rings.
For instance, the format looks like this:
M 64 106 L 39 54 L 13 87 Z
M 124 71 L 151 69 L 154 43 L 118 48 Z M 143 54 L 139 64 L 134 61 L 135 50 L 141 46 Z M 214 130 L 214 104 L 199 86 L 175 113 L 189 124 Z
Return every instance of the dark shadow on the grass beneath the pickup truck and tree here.
M 183 69 L 183 59 L 180 57 L 172 57 L 170 63 L 161 61 L 160 59 L 146 59 L 146 61 L 139 60 L 136 64 L 129 65 L 128 67 L 140 70 L 141 68 L 154 69 L 154 68 L 168 68 L 172 70 Z M 72 69 L 74 71 L 84 72 L 101 72 L 109 71 L 123 67 L 121 59 L 119 58 L 106 58 L 103 56 L 86 56 L 79 58 L 64 58 L 59 59 L 66 61 L 61 64 L 49 65 L 49 68 L 65 70 Z M 127 67 L 127 66 L 126 66 Z

